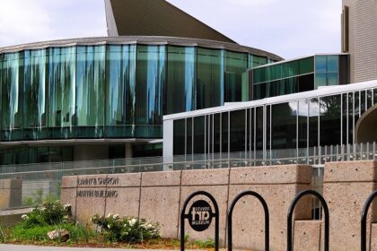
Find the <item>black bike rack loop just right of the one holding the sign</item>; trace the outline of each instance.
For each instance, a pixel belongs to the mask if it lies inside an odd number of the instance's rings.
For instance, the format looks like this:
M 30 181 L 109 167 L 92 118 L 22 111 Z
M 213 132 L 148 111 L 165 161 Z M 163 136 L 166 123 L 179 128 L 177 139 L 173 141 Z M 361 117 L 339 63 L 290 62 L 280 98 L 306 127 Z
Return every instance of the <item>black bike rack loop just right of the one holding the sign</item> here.
M 227 219 L 228 220 L 228 251 L 232 251 L 232 214 L 233 214 L 233 209 L 234 209 L 235 205 L 238 203 L 238 201 L 241 200 L 241 198 L 243 196 L 246 196 L 246 195 L 251 195 L 251 196 L 256 197 L 263 206 L 263 210 L 265 212 L 265 250 L 269 251 L 269 212 L 268 212 L 268 206 L 267 206 L 265 199 L 261 195 L 259 195 L 258 193 L 254 192 L 254 191 L 244 191 L 240 195 L 237 195 L 234 198 L 234 200 L 232 201 L 232 204 L 231 204 L 231 207 L 229 208 L 229 212 L 228 212 L 228 216 L 227 216 L 228 217 L 228 219 Z

